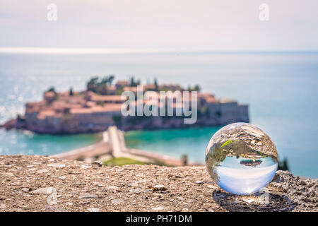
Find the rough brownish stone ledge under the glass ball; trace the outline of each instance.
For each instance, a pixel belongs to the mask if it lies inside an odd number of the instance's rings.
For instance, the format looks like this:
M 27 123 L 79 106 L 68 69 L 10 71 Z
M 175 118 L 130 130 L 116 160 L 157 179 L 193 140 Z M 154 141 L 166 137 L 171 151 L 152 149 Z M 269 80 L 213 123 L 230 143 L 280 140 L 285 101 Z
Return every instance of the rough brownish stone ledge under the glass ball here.
M 318 211 L 317 179 L 278 171 L 264 194 L 235 196 L 205 167 L 105 167 L 0 155 L 0 211 Z

